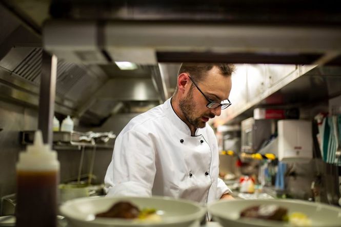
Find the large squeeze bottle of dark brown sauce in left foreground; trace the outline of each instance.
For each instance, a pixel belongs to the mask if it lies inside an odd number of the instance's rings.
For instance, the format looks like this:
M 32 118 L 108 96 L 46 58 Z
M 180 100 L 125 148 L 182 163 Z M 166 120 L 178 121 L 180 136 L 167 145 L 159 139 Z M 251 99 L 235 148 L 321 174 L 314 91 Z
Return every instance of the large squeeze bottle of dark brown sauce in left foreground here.
M 16 174 L 16 226 L 56 227 L 59 162 L 57 153 L 44 145 L 41 131 L 19 154 Z

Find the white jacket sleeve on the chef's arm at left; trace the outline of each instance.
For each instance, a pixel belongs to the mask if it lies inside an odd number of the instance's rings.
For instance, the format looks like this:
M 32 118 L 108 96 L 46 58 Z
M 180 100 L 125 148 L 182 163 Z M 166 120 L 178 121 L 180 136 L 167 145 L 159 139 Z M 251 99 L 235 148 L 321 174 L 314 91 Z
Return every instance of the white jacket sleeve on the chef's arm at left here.
M 105 176 L 107 196 L 151 196 L 155 149 L 147 133 L 131 129 L 115 141 Z

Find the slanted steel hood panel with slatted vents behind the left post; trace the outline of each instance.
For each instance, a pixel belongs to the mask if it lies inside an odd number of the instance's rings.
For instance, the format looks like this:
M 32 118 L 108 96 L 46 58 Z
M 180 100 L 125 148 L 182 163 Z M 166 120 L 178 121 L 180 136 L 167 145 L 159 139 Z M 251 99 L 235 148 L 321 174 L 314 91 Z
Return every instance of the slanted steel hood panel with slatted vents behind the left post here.
M 41 48 L 15 47 L 0 60 L 0 69 L 4 80 L 18 88 L 38 93 L 41 64 Z M 106 78 L 107 75 L 98 66 L 86 67 L 58 60 L 56 102 L 75 108 L 78 102 L 84 101 L 85 96 L 91 96 L 94 89 L 103 84 Z M 81 92 L 83 89 L 87 89 L 86 92 Z

